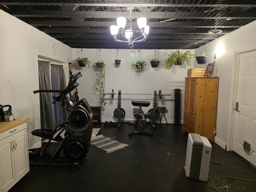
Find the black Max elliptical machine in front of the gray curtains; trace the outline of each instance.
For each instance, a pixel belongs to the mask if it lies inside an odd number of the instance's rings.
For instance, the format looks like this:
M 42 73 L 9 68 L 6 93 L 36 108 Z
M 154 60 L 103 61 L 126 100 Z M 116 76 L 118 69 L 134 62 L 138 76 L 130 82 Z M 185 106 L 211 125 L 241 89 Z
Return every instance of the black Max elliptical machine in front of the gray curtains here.
M 56 126 L 54 130 L 37 129 L 31 132 L 32 135 L 48 139 L 48 142 L 44 149 L 38 148 L 31 150 L 30 165 L 65 166 L 66 164 L 62 161 L 60 163 L 54 162 L 56 159 L 63 159 L 59 157 L 63 150 L 66 159 L 73 163 L 71 171 L 74 173 L 79 168 L 80 160 L 82 160 L 88 153 L 93 128 L 92 110 L 85 98 L 78 101 L 76 104 L 73 104 L 72 98 L 70 99 L 68 97 L 68 95 L 71 95 L 70 92 L 78 87 L 76 80 L 81 76 L 82 74 L 80 72 L 70 76 L 68 86 L 64 90 L 34 91 L 34 94 L 39 92 L 58 92 L 58 94 L 53 96 L 53 101 L 61 102 L 61 106 L 68 110 L 68 116 L 67 120 Z M 62 138 L 61 133 L 64 130 L 64 138 Z M 54 154 L 46 152 L 51 141 L 60 143 Z

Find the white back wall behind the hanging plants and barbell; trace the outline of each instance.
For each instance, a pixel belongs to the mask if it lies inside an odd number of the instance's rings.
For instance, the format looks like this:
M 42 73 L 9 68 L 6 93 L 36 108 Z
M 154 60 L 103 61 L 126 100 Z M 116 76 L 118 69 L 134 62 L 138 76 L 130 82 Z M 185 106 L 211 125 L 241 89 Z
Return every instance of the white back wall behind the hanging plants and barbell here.
M 128 44 L 127 44 L 128 46 Z M 136 44 L 135 44 L 136 46 Z M 74 72 L 81 71 L 82 77 L 78 80 L 78 95 L 79 98 L 86 98 L 91 106 L 100 106 L 98 100 L 98 94 L 95 92 L 95 72 L 94 63 L 100 60 L 105 62 L 106 67 L 106 86 L 105 92 L 111 93 L 112 89 L 116 95 L 114 99 L 111 95 L 106 95 L 107 105 L 102 113 L 102 122 L 105 121 L 117 121 L 114 118 L 114 109 L 118 107 L 118 90 L 122 93 L 142 93 L 142 94 L 154 94 L 154 90 L 161 90 L 163 94 L 173 94 L 174 88 L 182 89 L 184 93 L 184 82 L 187 76 L 188 68 L 177 67 L 175 70 L 167 70 L 164 68 L 164 59 L 167 58 L 170 51 L 173 50 L 156 50 L 156 54 L 160 59 L 160 66 L 158 68 L 152 68 L 150 59 L 154 55 L 154 50 L 140 50 L 142 60 L 146 61 L 146 68 L 141 72 L 136 72 L 131 66 L 130 49 L 119 50 L 121 58 L 120 66 L 116 67 L 115 59 L 117 50 L 114 49 L 83 49 L 83 54 L 90 60 L 90 68 L 79 67 L 78 64 L 74 64 Z M 132 50 L 138 51 L 138 50 Z M 180 50 L 185 52 L 186 50 Z M 194 54 L 194 50 L 191 50 Z M 99 54 L 100 53 L 100 54 Z M 81 54 L 81 49 L 73 50 L 73 60 L 75 60 Z M 192 61 L 192 63 L 194 60 Z M 153 95 L 122 95 L 121 107 L 126 111 L 126 116 L 122 120 L 135 120 L 132 113 L 131 100 L 146 100 L 150 101 L 149 107 L 144 108 L 144 112 L 148 112 L 150 108 L 153 108 Z M 171 96 L 163 96 L 161 100 L 158 99 L 158 106 L 166 106 L 166 118 L 168 122 L 171 122 L 172 104 Z M 183 101 L 183 99 L 182 99 Z M 183 110 L 183 107 L 182 107 Z M 182 114 L 183 116 L 183 114 Z

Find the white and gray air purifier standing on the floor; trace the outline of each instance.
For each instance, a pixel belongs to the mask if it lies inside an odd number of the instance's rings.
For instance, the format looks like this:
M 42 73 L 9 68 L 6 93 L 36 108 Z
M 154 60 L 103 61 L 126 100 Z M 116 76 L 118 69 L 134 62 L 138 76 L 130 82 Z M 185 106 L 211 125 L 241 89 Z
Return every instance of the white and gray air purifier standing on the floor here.
M 207 181 L 212 145 L 199 134 L 188 134 L 185 172 L 190 179 Z

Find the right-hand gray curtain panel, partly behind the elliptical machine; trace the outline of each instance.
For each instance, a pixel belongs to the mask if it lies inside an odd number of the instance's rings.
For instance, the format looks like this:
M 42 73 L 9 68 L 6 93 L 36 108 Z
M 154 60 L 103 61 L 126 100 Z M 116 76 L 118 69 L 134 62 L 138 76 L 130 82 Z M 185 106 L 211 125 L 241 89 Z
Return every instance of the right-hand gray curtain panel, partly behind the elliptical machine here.
M 62 65 L 52 65 L 52 89 L 63 90 L 66 88 L 66 78 Z M 58 93 L 53 93 L 52 96 Z M 61 102 L 56 102 L 53 105 L 54 126 L 63 123 L 67 119 L 67 110 L 60 105 Z

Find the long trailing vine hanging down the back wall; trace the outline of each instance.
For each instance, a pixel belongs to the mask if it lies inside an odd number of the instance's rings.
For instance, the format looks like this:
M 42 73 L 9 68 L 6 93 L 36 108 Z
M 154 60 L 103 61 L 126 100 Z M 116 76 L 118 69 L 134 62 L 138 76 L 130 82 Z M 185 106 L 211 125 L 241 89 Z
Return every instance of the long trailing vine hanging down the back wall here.
M 104 110 L 105 105 L 107 104 L 105 100 L 105 66 L 106 64 L 104 61 L 98 61 L 100 68 L 96 71 L 96 82 L 95 82 L 95 89 L 99 93 L 100 96 L 100 106 L 102 110 Z

